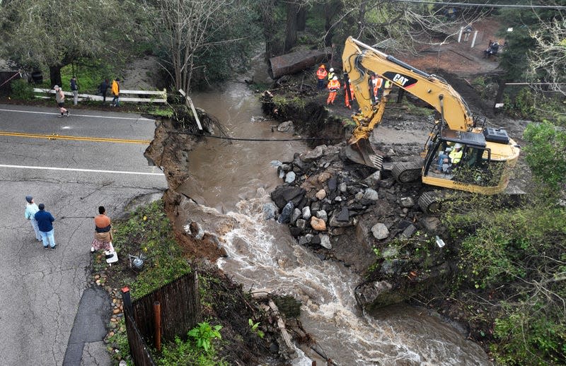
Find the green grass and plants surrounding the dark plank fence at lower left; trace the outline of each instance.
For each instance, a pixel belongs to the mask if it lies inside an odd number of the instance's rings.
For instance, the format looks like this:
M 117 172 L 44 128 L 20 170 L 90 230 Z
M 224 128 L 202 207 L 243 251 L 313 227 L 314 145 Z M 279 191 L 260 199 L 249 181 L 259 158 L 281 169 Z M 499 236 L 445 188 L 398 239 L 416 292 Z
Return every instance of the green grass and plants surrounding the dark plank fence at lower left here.
M 136 300 L 190 271 L 195 264 L 190 253 L 180 247 L 163 201 L 137 208 L 128 218 L 113 223 L 114 245 L 121 260 L 108 267 L 102 255 L 93 260 L 93 277 L 103 280 L 100 285 L 130 289 Z M 141 270 L 129 266 L 128 255 L 144 259 Z M 211 268 L 200 268 L 199 287 L 203 321 L 185 336 L 165 342 L 161 353 L 151 350 L 157 365 L 233 365 L 242 360 L 252 361 L 262 353 L 270 356 L 263 345 L 264 333 L 260 324 L 265 319 L 253 307 L 254 300 L 242 288 Z M 251 305 L 251 306 L 250 306 Z M 122 318 L 107 339 L 109 351 L 116 361 L 129 355 L 126 327 Z

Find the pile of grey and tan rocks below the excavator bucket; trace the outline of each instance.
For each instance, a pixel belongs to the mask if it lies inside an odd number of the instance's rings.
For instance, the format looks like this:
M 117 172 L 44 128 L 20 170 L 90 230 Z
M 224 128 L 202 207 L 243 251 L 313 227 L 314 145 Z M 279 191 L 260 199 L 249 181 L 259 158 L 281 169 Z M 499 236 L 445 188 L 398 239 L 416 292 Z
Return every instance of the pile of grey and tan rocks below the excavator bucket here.
M 275 203 L 266 203 L 266 218 L 288 223 L 291 235 L 300 244 L 316 244 L 331 249 L 330 236 L 342 235 L 357 224 L 358 216 L 378 201 L 373 187 L 380 179 L 375 172 L 364 181 L 344 169 L 341 145 L 317 146 L 295 154 L 292 162 L 272 162 L 284 184 L 272 191 Z M 383 237 L 381 237 L 383 239 Z

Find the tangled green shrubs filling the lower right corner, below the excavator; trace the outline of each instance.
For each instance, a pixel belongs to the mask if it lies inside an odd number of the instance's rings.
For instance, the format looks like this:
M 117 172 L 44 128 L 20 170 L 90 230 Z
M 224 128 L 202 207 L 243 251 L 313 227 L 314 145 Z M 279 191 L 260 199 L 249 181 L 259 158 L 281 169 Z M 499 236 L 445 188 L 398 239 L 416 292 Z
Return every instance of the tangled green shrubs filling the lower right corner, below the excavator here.
M 492 314 L 494 357 L 503 365 L 564 365 L 566 211 L 544 189 L 517 208 L 492 196 L 467 201 L 471 211 L 456 203 L 443 223 L 459 243 L 456 283 L 495 294 L 504 305 Z

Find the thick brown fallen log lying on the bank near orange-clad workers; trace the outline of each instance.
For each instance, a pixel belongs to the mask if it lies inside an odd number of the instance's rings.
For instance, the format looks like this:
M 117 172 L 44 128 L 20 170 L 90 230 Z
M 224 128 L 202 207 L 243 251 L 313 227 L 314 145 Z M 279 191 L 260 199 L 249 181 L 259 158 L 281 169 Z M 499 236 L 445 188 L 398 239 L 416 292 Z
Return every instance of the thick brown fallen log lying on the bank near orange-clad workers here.
M 312 49 L 310 51 L 296 51 L 270 59 L 269 69 L 267 70 L 272 79 L 289 73 L 296 73 L 328 59 L 329 52 Z

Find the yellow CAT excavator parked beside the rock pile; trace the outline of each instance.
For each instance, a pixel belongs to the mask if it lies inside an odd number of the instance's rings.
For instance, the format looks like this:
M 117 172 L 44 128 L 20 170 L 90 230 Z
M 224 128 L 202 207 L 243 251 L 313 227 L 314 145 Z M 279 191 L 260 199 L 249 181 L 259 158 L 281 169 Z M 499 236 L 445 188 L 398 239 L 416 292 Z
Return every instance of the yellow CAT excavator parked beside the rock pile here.
M 383 90 L 375 100 L 372 79 L 378 77 L 423 100 L 439 115 L 421 159 L 393 165 L 391 172 L 398 182 L 420 178 L 424 184 L 478 194 L 499 194 L 507 188 L 519 145 L 504 129 L 476 126 L 466 102 L 446 81 L 352 37 L 345 42 L 342 62 L 350 79 L 346 79 L 345 90 L 352 84 L 360 107 L 352 116 L 356 127 L 346 151 L 350 160 L 381 170 L 383 156 L 372 148 L 369 135 L 381 122 L 391 89 Z M 426 213 L 438 211 L 439 202 L 434 191 L 419 199 Z

